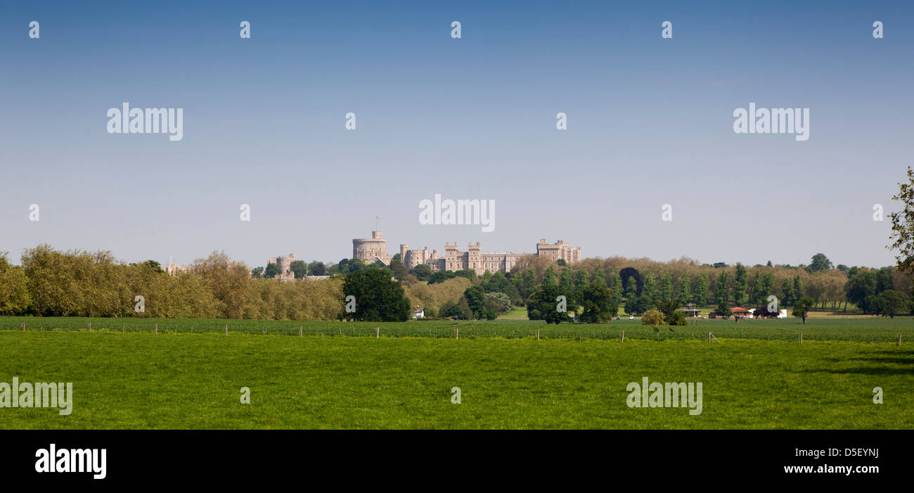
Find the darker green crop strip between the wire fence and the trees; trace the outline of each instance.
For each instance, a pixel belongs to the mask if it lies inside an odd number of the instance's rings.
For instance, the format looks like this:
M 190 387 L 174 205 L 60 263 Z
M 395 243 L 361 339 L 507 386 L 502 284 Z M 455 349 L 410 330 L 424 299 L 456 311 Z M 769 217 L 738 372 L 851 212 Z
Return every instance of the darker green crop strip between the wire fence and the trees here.
M 218 318 L 89 318 L 79 316 L 0 316 L 0 332 L 46 330 L 46 331 L 105 331 L 154 333 L 225 333 L 260 334 L 284 336 L 350 336 L 392 338 L 539 338 L 556 339 L 691 339 L 707 340 L 711 332 L 717 339 L 741 338 L 761 340 L 798 341 L 800 333 L 804 341 L 856 341 L 914 343 L 914 318 L 878 316 L 856 317 L 811 317 L 805 325 L 797 318 L 774 320 L 742 320 L 737 324 L 733 319 L 692 320 L 685 327 L 653 327 L 641 325 L 640 319 L 613 320 L 610 324 L 561 324 L 547 325 L 543 321 L 493 320 L 493 321 L 450 321 L 425 320 L 395 323 L 339 322 L 339 321 L 282 321 L 282 320 L 226 320 Z M 376 330 L 377 329 L 377 330 Z M 459 332 L 459 334 L 458 334 Z

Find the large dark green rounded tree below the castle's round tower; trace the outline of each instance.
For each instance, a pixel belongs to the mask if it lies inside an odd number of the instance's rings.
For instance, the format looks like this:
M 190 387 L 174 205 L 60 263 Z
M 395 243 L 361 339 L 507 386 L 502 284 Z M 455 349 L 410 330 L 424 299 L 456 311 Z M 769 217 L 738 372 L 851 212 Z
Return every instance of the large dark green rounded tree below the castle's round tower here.
M 356 297 L 356 313 L 345 316 L 366 322 L 409 320 L 409 298 L 403 288 L 382 269 L 365 269 L 345 276 L 344 296 Z

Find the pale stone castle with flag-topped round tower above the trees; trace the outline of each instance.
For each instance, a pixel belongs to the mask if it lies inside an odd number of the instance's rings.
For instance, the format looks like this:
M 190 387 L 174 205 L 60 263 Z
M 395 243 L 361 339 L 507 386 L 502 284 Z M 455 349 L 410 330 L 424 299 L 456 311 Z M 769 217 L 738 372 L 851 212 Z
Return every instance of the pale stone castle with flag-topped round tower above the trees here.
M 409 250 L 409 245 L 401 244 L 399 254 L 400 262 L 408 270 L 424 263 L 432 271 L 473 271 L 476 275 L 483 275 L 485 271 L 510 272 L 517 260 L 528 253 L 484 253 L 479 241 L 476 241 L 467 246 L 466 252 L 461 252 L 456 242 L 445 243 L 443 256 L 437 250 Z M 544 239 L 537 243 L 535 254 L 553 261 L 561 259 L 566 263 L 576 263 L 580 260 L 580 247 L 571 248 L 568 242 L 561 240 L 547 243 Z M 381 237 L 381 231 L 371 231 L 371 238 L 354 239 L 352 257 L 365 263 L 380 262 L 385 265 L 393 260 L 388 255 L 388 241 Z

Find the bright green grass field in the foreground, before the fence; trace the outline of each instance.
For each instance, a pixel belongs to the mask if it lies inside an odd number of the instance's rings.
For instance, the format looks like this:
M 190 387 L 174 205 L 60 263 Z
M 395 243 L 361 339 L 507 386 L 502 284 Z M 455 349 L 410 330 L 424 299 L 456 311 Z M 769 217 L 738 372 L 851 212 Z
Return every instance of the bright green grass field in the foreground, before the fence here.
M 0 348 L 0 381 L 74 394 L 69 416 L 0 408 L 5 429 L 914 427 L 914 348 L 891 343 L 4 330 Z M 629 408 L 643 377 L 702 382 L 703 412 Z

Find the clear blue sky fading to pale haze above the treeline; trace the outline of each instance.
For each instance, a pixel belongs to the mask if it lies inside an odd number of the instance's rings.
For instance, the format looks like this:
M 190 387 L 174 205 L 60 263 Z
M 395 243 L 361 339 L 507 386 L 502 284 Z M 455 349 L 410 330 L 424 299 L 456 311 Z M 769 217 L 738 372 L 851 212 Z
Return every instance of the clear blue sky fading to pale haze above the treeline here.
M 338 261 L 376 215 L 390 254 L 547 238 L 585 257 L 893 263 L 872 209 L 898 209 L 914 165 L 910 2 L 82 4 L 0 3 L 16 263 L 42 242 Z M 184 108 L 184 138 L 108 134 L 122 102 Z M 810 108 L 809 140 L 735 134 L 749 102 Z M 494 231 L 421 225 L 436 193 L 494 200 Z

